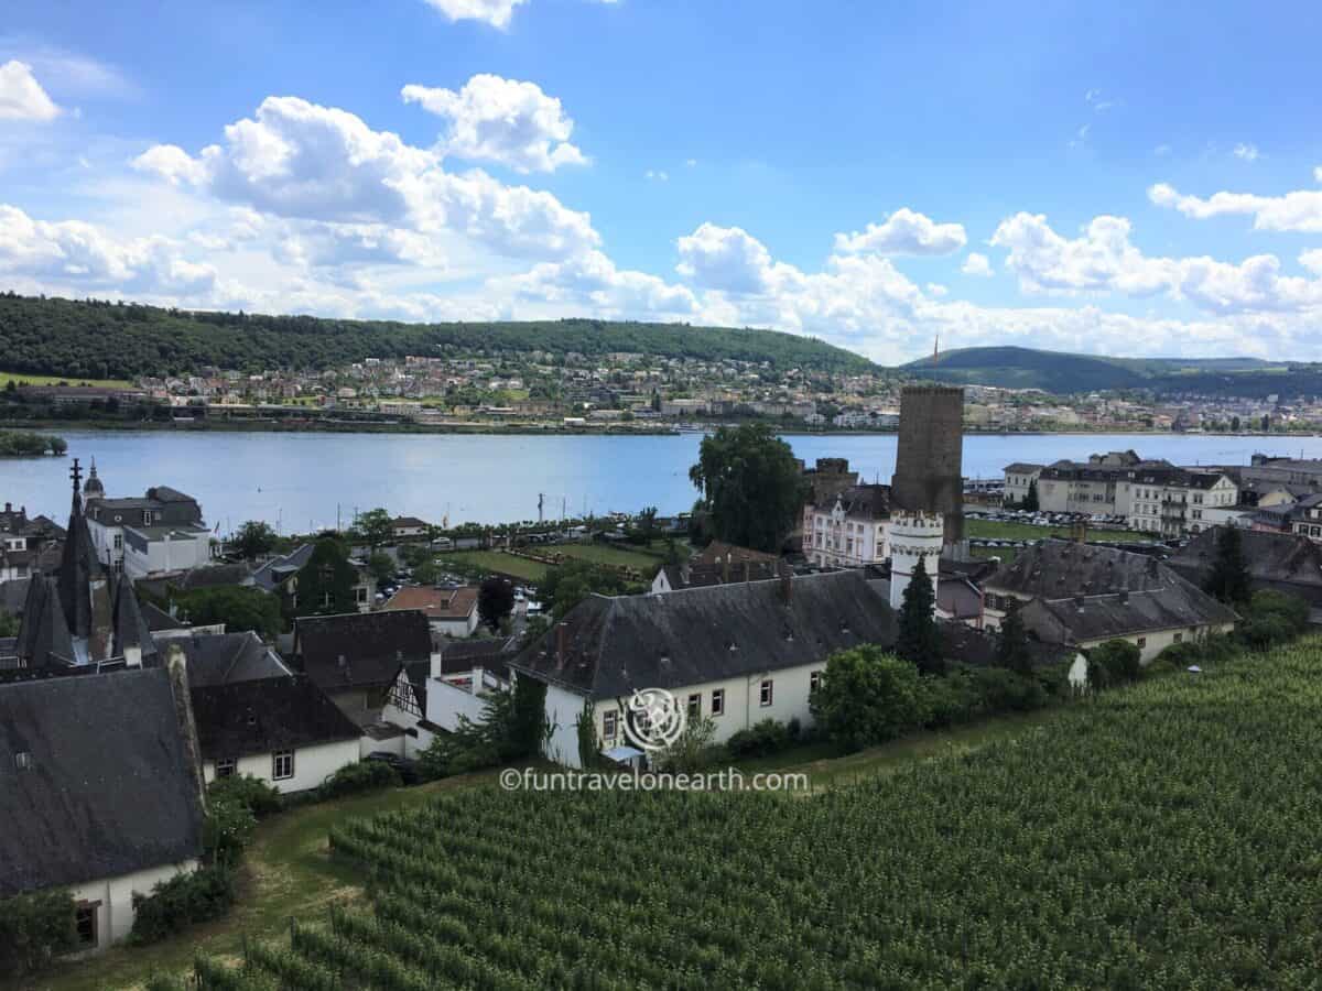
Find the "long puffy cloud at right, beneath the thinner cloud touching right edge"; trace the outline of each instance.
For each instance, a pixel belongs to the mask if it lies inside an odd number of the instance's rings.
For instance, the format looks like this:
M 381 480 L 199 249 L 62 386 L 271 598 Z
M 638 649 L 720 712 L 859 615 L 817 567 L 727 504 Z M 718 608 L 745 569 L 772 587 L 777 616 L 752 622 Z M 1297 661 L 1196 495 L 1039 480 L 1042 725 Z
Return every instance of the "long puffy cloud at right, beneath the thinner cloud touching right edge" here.
M 1096 217 L 1075 239 L 1056 234 L 1042 214 L 1001 222 L 992 244 L 1007 248 L 1006 264 L 1026 292 L 1165 293 L 1215 313 L 1303 312 L 1322 307 L 1322 281 L 1282 276 L 1274 255 L 1240 264 L 1211 258 L 1153 258 L 1129 240 L 1124 217 Z

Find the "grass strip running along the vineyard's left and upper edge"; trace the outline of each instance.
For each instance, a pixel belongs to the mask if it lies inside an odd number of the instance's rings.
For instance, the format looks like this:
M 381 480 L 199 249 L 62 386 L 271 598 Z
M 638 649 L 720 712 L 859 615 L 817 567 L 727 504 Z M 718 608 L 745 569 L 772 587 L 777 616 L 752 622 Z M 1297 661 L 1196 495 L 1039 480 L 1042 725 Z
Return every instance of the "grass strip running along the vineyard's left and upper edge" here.
M 806 773 L 812 790 L 818 791 L 888 774 L 915 761 L 970 753 L 992 741 L 1027 732 L 1056 711 L 999 716 L 948 732 L 917 733 L 845 757 L 836 756 L 828 743 L 805 744 L 773 757 L 740 761 L 735 766 L 746 774 L 768 770 Z M 193 926 L 152 946 L 120 946 L 94 959 L 57 967 L 22 988 L 140 988 L 156 973 L 190 973 L 198 951 L 238 962 L 245 937 L 278 939 L 287 932 L 291 916 L 311 924 L 324 918 L 330 904 L 365 897 L 362 876 L 352 867 L 332 860 L 327 852 L 327 835 L 333 825 L 348 818 L 422 805 L 447 789 L 492 786 L 496 777 L 496 770 L 483 772 L 418 788 L 301 806 L 276 815 L 258 826 L 245 858 L 239 901 L 226 918 Z M 0 983 L 0 987 L 4 984 Z

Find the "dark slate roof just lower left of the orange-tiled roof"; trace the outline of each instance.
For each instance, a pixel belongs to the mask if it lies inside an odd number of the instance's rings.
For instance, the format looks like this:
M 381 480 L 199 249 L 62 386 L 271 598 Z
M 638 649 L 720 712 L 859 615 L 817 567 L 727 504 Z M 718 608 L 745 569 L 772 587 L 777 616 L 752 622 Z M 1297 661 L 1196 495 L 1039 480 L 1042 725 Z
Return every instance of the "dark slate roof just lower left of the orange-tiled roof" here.
M 293 638 L 303 670 L 325 691 L 389 687 L 401 666 L 431 658 L 431 625 L 416 609 L 305 616 Z

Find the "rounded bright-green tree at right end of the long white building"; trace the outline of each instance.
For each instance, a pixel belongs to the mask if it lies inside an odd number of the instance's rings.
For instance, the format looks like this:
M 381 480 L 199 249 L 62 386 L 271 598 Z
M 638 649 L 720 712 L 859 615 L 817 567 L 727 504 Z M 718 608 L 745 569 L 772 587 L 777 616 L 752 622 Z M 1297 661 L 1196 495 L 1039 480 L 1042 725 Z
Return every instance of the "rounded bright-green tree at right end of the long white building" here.
M 845 751 L 861 751 L 921 725 L 924 699 L 914 665 L 865 643 L 828 658 L 809 706 L 828 737 Z

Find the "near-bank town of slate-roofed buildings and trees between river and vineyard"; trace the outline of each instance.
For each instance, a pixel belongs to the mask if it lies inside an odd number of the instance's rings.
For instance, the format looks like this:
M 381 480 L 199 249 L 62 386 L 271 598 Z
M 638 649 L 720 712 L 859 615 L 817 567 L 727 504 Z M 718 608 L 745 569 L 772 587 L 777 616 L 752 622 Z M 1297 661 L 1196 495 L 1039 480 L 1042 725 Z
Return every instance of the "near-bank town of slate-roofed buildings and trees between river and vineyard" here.
M 898 402 L 890 484 L 750 423 L 702 441 L 677 515 L 375 509 L 222 538 L 173 480 L 126 493 L 71 460 L 67 518 L 0 513 L 0 707 L 29 776 L 0 899 L 69 924 L 45 963 L 149 943 L 243 897 L 245 836 L 287 803 L 527 761 L 847 754 L 1322 624 L 1322 461 L 1101 451 L 968 480 L 964 390 Z M 682 708 L 664 748 L 644 688 Z M 53 832 L 56 809 L 98 826 Z

